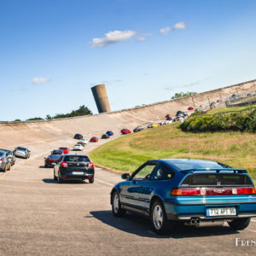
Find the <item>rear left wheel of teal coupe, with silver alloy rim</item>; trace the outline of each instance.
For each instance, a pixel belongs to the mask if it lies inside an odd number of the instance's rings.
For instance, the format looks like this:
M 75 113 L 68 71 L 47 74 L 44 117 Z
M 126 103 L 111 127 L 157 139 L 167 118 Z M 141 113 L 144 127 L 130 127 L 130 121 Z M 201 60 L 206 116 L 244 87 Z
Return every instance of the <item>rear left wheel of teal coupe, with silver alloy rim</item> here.
M 156 234 L 166 235 L 171 232 L 172 225 L 166 218 L 165 207 L 160 200 L 155 200 L 150 209 L 152 229 Z

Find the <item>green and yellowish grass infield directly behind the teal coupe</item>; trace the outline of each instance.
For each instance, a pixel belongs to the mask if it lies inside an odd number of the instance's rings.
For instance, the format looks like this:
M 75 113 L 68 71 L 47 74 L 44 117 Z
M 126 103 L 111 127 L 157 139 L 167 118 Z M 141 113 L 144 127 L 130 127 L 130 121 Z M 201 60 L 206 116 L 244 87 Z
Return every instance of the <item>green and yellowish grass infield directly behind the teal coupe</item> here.
M 133 172 L 146 160 L 191 158 L 218 160 L 229 166 L 245 168 L 256 180 L 256 135 L 246 132 L 190 133 L 177 125 L 125 135 L 90 152 L 99 165 Z

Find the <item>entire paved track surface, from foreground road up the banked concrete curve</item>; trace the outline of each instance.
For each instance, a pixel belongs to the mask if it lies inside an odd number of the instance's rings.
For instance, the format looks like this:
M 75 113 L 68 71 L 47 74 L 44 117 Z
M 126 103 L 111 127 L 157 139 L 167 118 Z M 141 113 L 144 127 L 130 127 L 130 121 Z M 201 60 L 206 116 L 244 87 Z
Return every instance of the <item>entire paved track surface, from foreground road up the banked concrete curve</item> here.
M 230 96 L 236 88 L 253 91 L 254 86 L 253 81 L 197 95 L 195 105 L 207 103 L 208 97 L 213 102 Z M 44 168 L 49 150 L 73 145 L 76 132 L 90 137 L 113 130 L 114 138 L 123 127 L 163 119 L 166 113 L 190 105 L 188 97 L 89 117 L 0 124 L 0 147 L 23 145 L 32 150 L 30 159 L 17 158 L 9 172 L 0 172 L 0 255 L 254 255 L 254 246 L 241 242 L 255 241 L 255 218 L 239 232 L 227 224 L 201 229 L 178 226 L 170 236 L 157 236 L 147 218 L 131 212 L 125 218 L 112 216 L 109 194 L 119 175 L 96 167 L 95 183 L 59 184 L 52 168 Z M 82 153 L 106 141 L 89 143 Z

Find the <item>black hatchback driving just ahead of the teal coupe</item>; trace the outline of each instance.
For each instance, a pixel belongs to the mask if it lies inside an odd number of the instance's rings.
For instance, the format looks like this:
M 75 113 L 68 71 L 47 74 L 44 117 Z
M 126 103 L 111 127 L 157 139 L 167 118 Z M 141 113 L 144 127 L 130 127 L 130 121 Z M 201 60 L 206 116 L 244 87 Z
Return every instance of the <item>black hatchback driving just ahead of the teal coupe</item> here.
M 94 165 L 85 154 L 64 154 L 54 166 L 54 179 L 58 183 L 63 180 L 84 180 L 94 182 Z

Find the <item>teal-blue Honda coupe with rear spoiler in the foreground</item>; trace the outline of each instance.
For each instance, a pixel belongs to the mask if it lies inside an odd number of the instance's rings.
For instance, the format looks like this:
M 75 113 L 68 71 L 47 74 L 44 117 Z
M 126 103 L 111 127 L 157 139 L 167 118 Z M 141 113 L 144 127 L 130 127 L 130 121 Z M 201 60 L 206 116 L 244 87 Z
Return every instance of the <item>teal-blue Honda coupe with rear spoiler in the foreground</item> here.
M 112 212 L 151 219 L 165 234 L 180 222 L 197 227 L 221 225 L 243 230 L 256 217 L 256 190 L 244 169 L 209 160 L 148 160 L 111 191 Z

